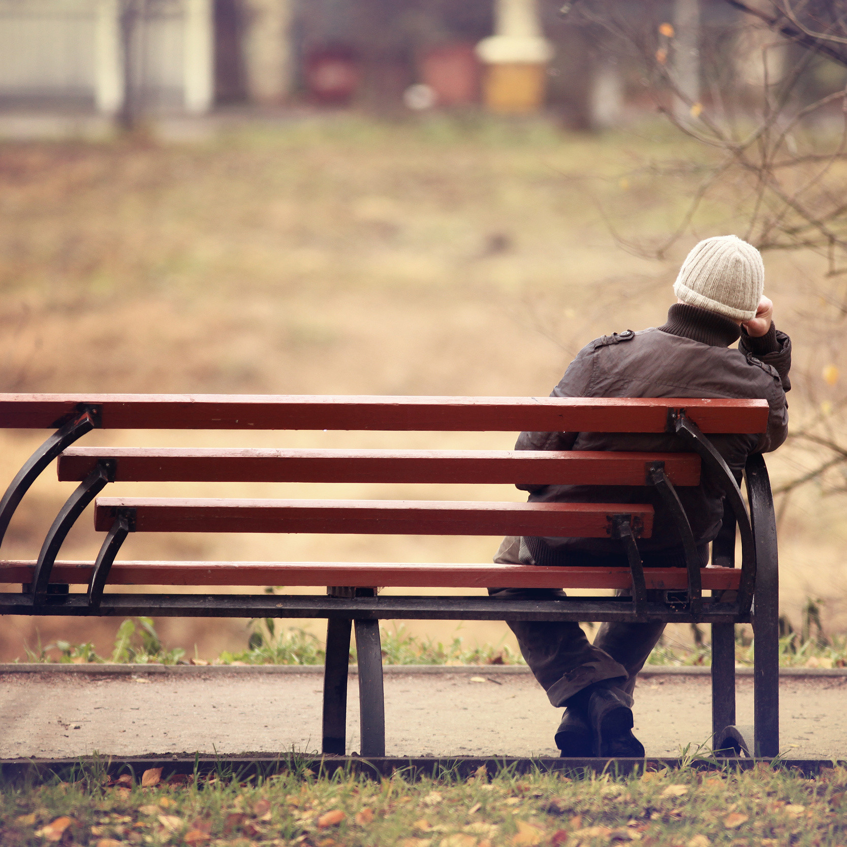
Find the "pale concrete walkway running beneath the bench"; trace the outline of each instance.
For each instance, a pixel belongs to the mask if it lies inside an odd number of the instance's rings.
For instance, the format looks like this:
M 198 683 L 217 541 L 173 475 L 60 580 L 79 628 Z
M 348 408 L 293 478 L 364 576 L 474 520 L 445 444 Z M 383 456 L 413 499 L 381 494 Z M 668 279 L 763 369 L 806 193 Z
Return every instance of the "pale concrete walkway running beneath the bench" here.
M 0 758 L 320 748 L 322 668 L 37 667 L 0 667 Z M 389 756 L 556 755 L 561 711 L 523 668 L 386 671 Z M 357 694 L 352 674 L 348 752 L 359 745 Z M 783 677 L 781 748 L 791 758 L 847 758 L 845 694 L 847 674 Z M 645 675 L 634 711 L 647 755 L 706 742 L 710 702 L 707 675 Z M 739 723 L 752 722 L 752 708 L 752 680 L 739 677 Z

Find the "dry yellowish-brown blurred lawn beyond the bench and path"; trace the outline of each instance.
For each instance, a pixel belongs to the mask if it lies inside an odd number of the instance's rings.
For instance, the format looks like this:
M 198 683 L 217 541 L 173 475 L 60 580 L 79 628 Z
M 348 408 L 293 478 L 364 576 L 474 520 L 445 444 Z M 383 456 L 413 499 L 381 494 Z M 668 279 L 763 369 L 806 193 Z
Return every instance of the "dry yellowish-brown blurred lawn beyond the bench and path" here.
M 354 117 L 246 126 L 192 146 L 152 142 L 0 146 L 0 388 L 297 394 L 545 395 L 573 354 L 614 330 L 662 323 L 678 264 L 697 237 L 737 229 L 727 204 L 663 261 L 617 246 L 609 220 L 655 243 L 673 230 L 689 177 L 636 173 L 649 158 L 701 153 L 661 126 L 563 135 L 543 122 Z M 623 178 L 623 179 L 622 179 Z M 839 362 L 818 334 L 815 257 L 770 255 L 767 291 L 794 335 L 795 417 Z M 811 374 L 811 375 L 810 375 Z M 805 387 L 804 387 L 805 386 Z M 818 392 L 816 394 L 815 392 Z M 11 479 L 44 437 L 0 433 Z M 84 443 L 145 446 L 465 446 L 508 448 L 512 434 L 97 432 Z M 805 460 L 804 460 L 805 461 Z M 794 473 L 788 448 L 772 473 Z M 45 474 L 25 499 L 4 557 L 36 556 L 69 484 Z M 427 486 L 117 486 L 119 493 L 519 499 Z M 783 605 L 806 595 L 845 623 L 843 501 L 795 495 L 782 523 Z M 80 520 L 63 557 L 100 539 Z M 139 537 L 150 558 L 485 561 L 497 540 L 306 536 Z M 43 619 L 42 639 L 94 639 L 118 622 Z M 6 620 L 0 659 L 35 640 Z M 201 656 L 241 649 L 244 622 L 159 624 Z M 421 622 L 449 638 L 453 624 Z M 465 637 L 511 639 L 499 623 Z M 512 643 L 512 641 L 509 641 Z

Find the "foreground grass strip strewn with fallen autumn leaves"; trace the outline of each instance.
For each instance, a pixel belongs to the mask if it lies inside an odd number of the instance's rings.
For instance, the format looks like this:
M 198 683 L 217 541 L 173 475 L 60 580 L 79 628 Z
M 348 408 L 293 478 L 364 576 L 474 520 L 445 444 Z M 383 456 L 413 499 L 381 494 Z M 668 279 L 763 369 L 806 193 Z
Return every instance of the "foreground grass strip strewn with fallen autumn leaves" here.
M 710 844 L 819 847 L 847 842 L 847 771 L 803 778 L 782 767 L 704 772 L 692 767 L 626 778 L 565 778 L 501 769 L 467 780 L 399 774 L 375 783 L 311 771 L 239 781 L 232 775 L 140 787 L 115 782 L 105 762 L 73 783 L 7 786 L 4 847 L 209 844 L 274 847 L 656 847 Z M 156 783 L 159 774 L 141 780 Z

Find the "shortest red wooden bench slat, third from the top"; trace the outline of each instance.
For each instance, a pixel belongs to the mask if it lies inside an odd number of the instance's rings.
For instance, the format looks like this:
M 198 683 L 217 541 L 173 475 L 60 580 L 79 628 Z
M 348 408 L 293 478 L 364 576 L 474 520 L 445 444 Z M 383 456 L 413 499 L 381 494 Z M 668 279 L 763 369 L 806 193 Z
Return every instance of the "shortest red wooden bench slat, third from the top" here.
M 639 503 L 500 503 L 420 500 L 227 500 L 98 497 L 95 529 L 136 510 L 138 532 L 547 535 L 607 538 L 612 515 L 639 518 L 650 537 L 653 507 Z

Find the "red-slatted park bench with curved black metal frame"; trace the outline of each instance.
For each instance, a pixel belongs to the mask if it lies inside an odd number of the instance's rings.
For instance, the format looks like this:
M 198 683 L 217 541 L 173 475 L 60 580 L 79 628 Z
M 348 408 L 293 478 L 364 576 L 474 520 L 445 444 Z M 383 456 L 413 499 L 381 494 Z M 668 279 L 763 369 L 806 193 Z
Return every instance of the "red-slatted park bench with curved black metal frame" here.
M 346 749 L 352 629 L 357 639 L 361 754 L 385 755 L 379 620 L 664 620 L 711 624 L 712 730 L 716 750 L 778 755 L 778 570 L 767 468 L 745 468 L 747 501 L 711 445 L 716 433 L 755 434 L 766 401 L 667 398 L 0 395 L 6 428 L 55 429 L 0 501 L 0 544 L 15 508 L 58 457 L 58 478 L 80 484 L 58 512 L 35 561 L 0 561 L 0 613 L 14 615 L 325 617 L 323 750 Z M 594 431 L 672 433 L 678 451 L 446 451 L 338 449 L 149 449 L 72 447 L 91 429 L 345 429 L 382 431 Z M 711 474 L 726 495 L 711 565 L 701 568 L 677 486 Z M 120 482 L 368 482 L 652 485 L 673 515 L 686 567 L 643 567 L 653 508 L 633 503 L 339 501 L 98 496 Z M 513 495 L 513 491 L 510 493 Z M 95 500 L 105 534 L 94 562 L 57 556 Z M 735 567 L 736 526 L 741 541 Z M 629 567 L 529 567 L 394 562 L 115 561 L 130 533 L 354 533 L 545 535 L 615 538 Z M 492 545 L 492 551 L 494 545 Z M 70 586 L 87 585 L 71 592 Z M 328 586 L 326 595 L 121 593 L 144 586 Z M 108 586 L 108 591 L 106 587 Z M 379 595 L 377 586 L 447 589 L 440 596 Z M 449 589 L 628 589 L 628 595 L 500 600 Z M 651 593 L 648 595 L 648 591 Z M 656 590 L 662 592 L 656 601 Z M 711 593 L 711 594 L 710 594 Z M 752 623 L 755 723 L 735 722 L 734 625 Z

